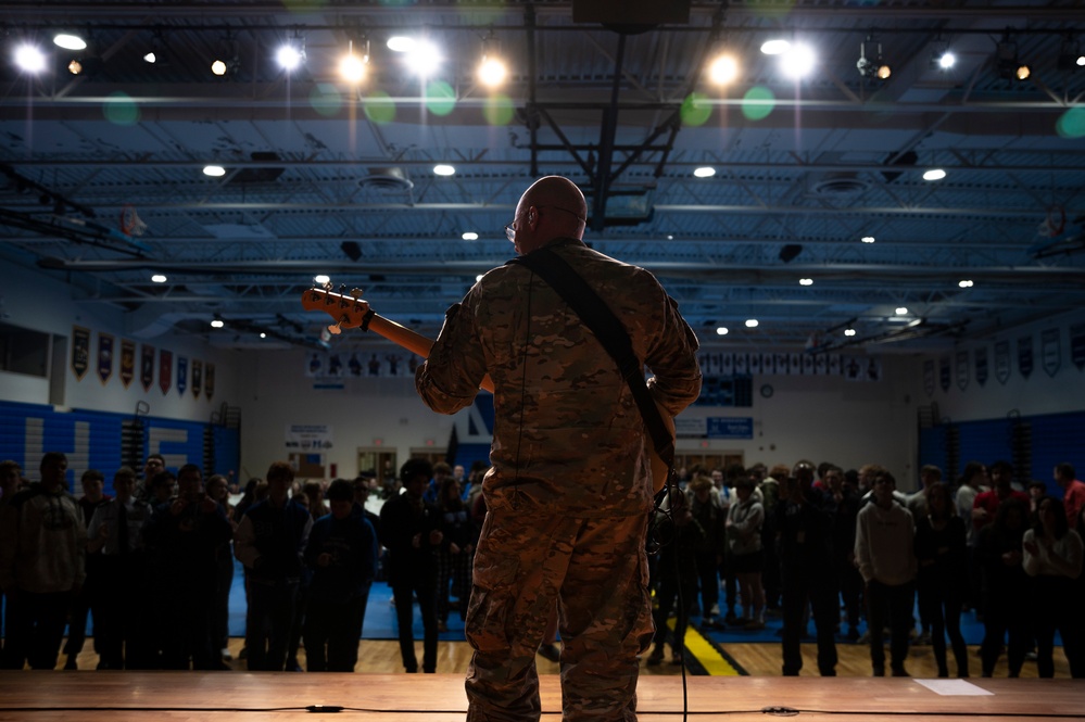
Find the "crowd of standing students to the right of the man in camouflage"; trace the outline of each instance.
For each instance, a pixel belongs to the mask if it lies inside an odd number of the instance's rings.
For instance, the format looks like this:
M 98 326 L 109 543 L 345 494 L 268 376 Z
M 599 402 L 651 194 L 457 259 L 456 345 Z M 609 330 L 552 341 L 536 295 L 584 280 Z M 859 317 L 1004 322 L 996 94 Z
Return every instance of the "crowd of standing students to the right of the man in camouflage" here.
M 1007 461 L 993 464 L 989 478 L 985 465 L 970 463 L 954 486 L 924 466 L 911 494 L 878 465 L 845 472 L 804 460 L 680 478 L 657 512 L 648 664 L 665 660 L 668 639 L 672 661 L 681 661 L 699 605 L 701 623 L 716 629 L 759 630 L 767 611 L 782 616 L 784 675 L 803 667 L 799 643 L 812 618 L 822 675 L 836 673 L 838 637 L 868 642 L 872 673 L 885 675 L 887 634 L 891 674 L 908 675 L 909 645 L 919 643 L 931 645 L 939 676 L 949 675 L 951 651 L 964 677 L 960 622 L 972 611 L 984 625 L 984 676 L 1004 650 L 1010 676 L 1031 650 L 1039 676 L 1052 676 L 1056 632 L 1071 674 L 1085 676 L 1085 483 L 1070 464 L 1054 470 L 1057 495 L 1043 481 L 1019 489 Z

